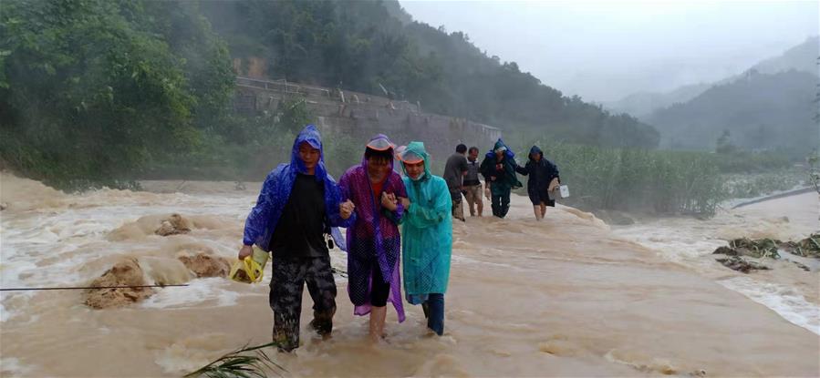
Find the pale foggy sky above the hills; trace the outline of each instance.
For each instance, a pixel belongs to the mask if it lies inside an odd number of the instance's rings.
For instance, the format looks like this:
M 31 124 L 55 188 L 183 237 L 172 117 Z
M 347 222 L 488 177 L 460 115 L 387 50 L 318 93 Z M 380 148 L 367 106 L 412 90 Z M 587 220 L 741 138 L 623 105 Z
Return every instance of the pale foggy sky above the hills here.
M 729 77 L 818 34 L 817 1 L 408 1 L 489 56 L 590 101 Z

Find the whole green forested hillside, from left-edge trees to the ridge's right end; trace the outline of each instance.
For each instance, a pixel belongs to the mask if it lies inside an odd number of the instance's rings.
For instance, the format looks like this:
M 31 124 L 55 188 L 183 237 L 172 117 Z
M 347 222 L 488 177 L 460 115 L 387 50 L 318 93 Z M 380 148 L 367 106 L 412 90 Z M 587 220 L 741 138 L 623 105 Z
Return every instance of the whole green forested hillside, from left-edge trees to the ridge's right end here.
M 396 1 L 9 0 L 0 2 L 0 163 L 52 183 L 159 166 L 209 167 L 197 176 L 207 178 L 249 159 L 265 169 L 279 153 L 271 146 L 310 115 L 234 114 L 234 77 L 249 70 L 555 141 L 659 142 L 654 128 L 564 97 L 461 32 L 413 22 Z

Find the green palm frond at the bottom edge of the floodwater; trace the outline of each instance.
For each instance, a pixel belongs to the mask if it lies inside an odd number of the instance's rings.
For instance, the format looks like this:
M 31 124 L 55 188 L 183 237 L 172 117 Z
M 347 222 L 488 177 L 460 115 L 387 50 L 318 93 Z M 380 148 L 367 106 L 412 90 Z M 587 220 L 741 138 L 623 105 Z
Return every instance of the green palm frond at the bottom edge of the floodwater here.
M 263 349 L 267 347 L 278 347 L 278 342 L 269 342 L 264 345 L 244 347 L 229 352 L 213 363 L 202 366 L 193 373 L 185 374 L 185 377 L 209 378 L 267 378 L 265 371 L 273 371 L 276 375 L 282 376 L 281 372 L 287 372 L 282 365 L 275 363 Z M 248 352 L 253 352 L 249 353 Z

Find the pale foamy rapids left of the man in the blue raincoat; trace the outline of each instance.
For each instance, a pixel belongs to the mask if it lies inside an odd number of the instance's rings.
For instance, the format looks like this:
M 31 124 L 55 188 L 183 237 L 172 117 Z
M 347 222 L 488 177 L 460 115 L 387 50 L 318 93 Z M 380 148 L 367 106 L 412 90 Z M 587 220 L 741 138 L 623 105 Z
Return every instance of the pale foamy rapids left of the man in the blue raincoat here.
M 4 214 L 0 222 L 0 287 L 79 286 L 93 278 L 83 269 L 88 262 L 133 249 L 127 243 L 106 240 L 110 231 L 123 224 L 143 216 L 169 213 L 244 220 L 253 199 L 250 192 L 192 196 L 100 189 L 67 195 L 63 201 L 67 206 Z M 202 242 L 214 250 L 234 249 L 222 240 Z M 189 296 L 163 289 L 149 306 L 185 306 L 210 300 L 219 306 L 234 303 L 236 293 L 208 282 L 193 281 L 192 286 L 183 288 L 191 293 Z M 0 322 L 25 312 L 26 303 L 34 294 L 4 291 L 0 295 Z

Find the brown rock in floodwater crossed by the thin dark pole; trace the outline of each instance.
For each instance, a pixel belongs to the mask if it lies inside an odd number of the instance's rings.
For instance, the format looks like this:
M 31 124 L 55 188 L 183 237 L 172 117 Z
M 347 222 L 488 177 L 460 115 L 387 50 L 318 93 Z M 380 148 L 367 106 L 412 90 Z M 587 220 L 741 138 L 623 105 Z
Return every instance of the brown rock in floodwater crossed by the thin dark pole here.
M 119 261 L 88 286 L 142 286 L 146 285 L 142 268 L 137 259 Z M 153 294 L 151 288 L 88 289 L 84 292 L 89 307 L 107 309 L 122 307 L 142 301 Z

